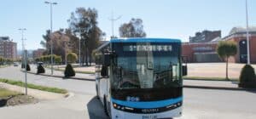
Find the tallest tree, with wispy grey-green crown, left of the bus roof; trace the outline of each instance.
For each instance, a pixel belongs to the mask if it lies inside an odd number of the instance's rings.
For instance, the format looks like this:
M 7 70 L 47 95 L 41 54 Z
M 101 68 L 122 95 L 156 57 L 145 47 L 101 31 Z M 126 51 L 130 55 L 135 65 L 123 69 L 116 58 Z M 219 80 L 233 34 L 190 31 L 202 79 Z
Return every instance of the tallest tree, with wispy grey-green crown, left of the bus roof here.
M 79 34 L 81 43 L 82 64 L 88 65 L 88 58 L 91 62 L 93 49 L 97 47 L 98 41 L 102 37 L 102 31 L 97 26 L 97 11 L 95 8 L 77 8 L 71 14 L 69 27 L 73 34 Z

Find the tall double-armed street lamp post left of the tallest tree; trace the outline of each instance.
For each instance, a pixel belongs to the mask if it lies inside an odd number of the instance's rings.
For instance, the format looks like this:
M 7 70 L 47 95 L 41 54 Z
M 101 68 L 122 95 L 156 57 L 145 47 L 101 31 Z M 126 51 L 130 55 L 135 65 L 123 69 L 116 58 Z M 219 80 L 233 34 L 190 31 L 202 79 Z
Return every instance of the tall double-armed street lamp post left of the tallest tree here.
M 57 3 L 51 3 L 51 2 L 44 2 L 46 4 L 49 4 L 49 14 L 50 14 L 50 32 L 49 34 L 51 35 L 52 33 L 52 6 L 57 4 Z M 50 65 L 51 65 L 51 75 L 53 75 L 53 53 L 52 53 L 52 39 L 50 38 Z

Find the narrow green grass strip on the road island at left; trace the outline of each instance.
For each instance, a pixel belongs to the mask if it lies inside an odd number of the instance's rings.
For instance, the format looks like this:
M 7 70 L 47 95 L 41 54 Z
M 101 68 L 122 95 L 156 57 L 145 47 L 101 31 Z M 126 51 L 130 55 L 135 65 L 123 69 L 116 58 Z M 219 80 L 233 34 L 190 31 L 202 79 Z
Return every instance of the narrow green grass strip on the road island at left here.
M 13 81 L 13 80 L 9 80 L 9 79 L 0 78 L 0 82 L 4 82 L 4 83 L 8 83 L 8 84 L 15 85 L 15 86 L 20 86 L 20 87 L 25 87 L 25 83 L 20 82 L 20 81 Z M 27 88 L 38 89 L 38 90 L 57 93 L 57 94 L 67 94 L 66 89 L 49 88 L 49 87 L 39 86 L 39 85 L 35 85 L 35 84 L 30 84 L 30 83 L 27 84 Z

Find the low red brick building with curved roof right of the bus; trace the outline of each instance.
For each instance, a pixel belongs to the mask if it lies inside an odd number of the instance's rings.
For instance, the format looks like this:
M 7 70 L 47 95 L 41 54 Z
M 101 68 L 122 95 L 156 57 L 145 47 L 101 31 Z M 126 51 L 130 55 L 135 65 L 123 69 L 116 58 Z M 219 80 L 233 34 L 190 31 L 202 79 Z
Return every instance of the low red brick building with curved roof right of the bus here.
M 190 38 L 190 37 L 189 37 Z M 246 28 L 234 27 L 230 34 L 223 38 L 214 38 L 208 42 L 183 42 L 183 57 L 187 62 L 221 62 L 217 54 L 219 41 L 234 41 L 237 54 L 230 57 L 230 62 L 247 63 L 247 31 Z M 249 28 L 249 49 L 251 63 L 256 63 L 256 27 Z

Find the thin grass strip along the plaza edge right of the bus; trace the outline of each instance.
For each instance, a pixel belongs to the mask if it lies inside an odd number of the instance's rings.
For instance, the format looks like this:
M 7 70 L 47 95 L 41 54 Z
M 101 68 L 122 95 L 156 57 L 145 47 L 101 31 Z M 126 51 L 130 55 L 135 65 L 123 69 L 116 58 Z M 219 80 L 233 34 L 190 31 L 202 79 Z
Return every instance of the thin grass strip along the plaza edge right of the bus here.
M 183 79 L 205 80 L 205 81 L 239 81 L 238 78 L 226 79 L 225 77 L 183 77 Z

